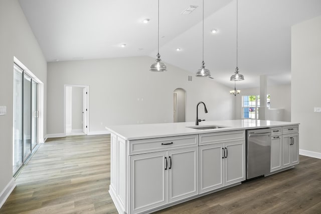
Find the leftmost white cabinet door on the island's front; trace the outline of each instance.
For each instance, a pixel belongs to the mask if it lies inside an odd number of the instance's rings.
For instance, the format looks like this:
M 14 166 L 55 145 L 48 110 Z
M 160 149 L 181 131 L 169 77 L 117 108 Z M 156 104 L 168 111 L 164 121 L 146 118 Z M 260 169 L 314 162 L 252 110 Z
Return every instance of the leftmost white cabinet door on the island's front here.
M 130 213 L 146 211 L 168 202 L 167 152 L 130 156 Z M 173 165 L 174 166 L 174 165 Z

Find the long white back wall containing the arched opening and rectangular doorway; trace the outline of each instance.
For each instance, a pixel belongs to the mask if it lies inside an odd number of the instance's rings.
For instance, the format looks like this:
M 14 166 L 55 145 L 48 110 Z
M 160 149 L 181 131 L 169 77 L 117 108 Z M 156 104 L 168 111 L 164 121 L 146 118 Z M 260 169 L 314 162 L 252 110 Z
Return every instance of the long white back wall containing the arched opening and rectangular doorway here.
M 206 120 L 233 119 L 230 88 L 210 78 L 188 81 L 185 70 L 167 64 L 167 72 L 150 72 L 151 57 L 128 57 L 48 63 L 48 133 L 63 133 L 64 84 L 89 85 L 89 134 L 108 125 L 173 122 L 173 91 L 186 90 L 186 120 L 196 118 L 196 104 L 204 101 Z M 197 68 L 195 68 L 197 69 Z

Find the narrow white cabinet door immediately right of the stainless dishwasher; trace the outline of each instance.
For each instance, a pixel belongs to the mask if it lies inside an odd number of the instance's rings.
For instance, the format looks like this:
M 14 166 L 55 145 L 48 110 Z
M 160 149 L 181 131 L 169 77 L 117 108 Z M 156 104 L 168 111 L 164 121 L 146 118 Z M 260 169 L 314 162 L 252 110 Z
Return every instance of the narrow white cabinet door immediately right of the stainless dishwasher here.
M 271 171 L 282 168 L 282 135 L 271 137 Z

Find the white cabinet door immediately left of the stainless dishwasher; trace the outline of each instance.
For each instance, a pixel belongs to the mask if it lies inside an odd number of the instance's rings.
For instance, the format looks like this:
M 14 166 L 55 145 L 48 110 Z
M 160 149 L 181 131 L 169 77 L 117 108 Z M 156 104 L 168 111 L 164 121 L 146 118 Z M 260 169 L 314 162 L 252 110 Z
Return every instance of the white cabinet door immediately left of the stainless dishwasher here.
M 225 185 L 245 180 L 245 142 L 235 141 L 224 143 L 225 154 Z

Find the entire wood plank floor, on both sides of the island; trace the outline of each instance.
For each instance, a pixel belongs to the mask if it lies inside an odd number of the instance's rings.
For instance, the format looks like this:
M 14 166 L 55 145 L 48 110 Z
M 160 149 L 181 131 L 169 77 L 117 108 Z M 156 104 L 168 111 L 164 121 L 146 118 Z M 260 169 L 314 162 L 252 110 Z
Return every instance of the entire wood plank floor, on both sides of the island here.
M 69 136 L 42 144 L 0 213 L 117 213 L 108 193 L 109 135 Z M 321 213 L 321 160 L 156 213 Z

